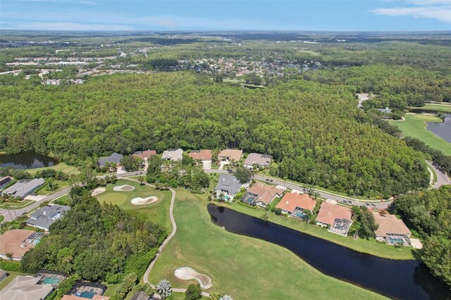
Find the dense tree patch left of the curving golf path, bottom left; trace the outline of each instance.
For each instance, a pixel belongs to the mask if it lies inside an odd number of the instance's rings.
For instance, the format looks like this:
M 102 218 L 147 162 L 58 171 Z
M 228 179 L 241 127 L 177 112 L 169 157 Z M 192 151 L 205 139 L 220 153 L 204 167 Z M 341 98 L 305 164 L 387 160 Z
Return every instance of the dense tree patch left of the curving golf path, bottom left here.
M 110 283 L 120 282 L 124 274 L 144 274 L 166 232 L 118 206 L 99 204 L 88 192 L 72 189 L 70 211 L 23 257 L 27 273 L 45 268 Z

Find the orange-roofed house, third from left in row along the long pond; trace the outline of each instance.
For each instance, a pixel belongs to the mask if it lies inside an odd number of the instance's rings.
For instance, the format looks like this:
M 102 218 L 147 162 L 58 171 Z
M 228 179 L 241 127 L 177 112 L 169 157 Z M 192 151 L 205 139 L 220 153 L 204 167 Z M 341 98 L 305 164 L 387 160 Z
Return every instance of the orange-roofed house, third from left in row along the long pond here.
M 316 206 L 316 201 L 311 199 L 308 194 L 299 194 L 296 192 L 287 193 L 283 196 L 276 208 L 280 208 L 283 213 L 297 218 L 304 218 L 305 211 L 313 210 Z

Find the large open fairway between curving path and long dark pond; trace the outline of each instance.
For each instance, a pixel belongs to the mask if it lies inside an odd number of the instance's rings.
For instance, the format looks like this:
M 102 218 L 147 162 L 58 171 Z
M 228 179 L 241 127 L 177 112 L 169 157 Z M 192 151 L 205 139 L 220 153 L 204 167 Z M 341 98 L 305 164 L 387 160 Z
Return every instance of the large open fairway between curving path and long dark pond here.
M 288 249 L 227 232 L 211 223 L 206 196 L 177 189 L 174 215 L 177 233 L 162 251 L 149 275 L 152 283 L 190 266 L 208 275 L 214 290 L 234 299 L 383 299 L 383 296 L 323 275 Z

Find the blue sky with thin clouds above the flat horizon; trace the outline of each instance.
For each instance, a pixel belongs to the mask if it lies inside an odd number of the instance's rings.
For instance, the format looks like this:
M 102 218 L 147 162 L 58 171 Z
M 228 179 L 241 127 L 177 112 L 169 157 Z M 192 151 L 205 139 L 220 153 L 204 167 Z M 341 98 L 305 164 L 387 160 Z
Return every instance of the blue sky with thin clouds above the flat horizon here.
M 1 29 L 451 30 L 451 0 L 1 0 Z

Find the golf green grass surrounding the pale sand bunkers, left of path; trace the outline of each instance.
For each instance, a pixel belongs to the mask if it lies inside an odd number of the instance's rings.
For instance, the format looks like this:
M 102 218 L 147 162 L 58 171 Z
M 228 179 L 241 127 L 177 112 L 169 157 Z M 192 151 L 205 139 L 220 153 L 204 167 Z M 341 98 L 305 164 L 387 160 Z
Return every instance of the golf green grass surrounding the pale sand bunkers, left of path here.
M 118 185 L 131 185 L 135 187 L 131 192 L 116 192 L 113 187 Z M 147 205 L 130 204 L 130 200 L 135 197 L 157 196 L 158 201 Z M 136 215 L 139 218 L 152 221 L 166 227 L 170 232 L 172 230 L 171 220 L 169 218 L 169 205 L 171 204 L 171 192 L 159 191 L 147 185 L 140 185 L 139 182 L 120 179 L 114 185 L 107 185 L 106 191 L 97 195 L 100 203 L 116 204 L 125 211 Z

